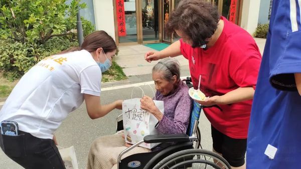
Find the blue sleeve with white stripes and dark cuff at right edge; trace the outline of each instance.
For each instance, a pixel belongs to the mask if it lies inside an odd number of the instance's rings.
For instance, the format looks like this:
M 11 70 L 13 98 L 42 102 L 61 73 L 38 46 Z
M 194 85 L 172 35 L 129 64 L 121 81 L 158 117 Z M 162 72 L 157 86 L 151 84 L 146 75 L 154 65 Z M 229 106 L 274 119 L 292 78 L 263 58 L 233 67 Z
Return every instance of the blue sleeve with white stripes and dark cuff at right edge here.
M 269 81 L 279 90 L 296 91 L 294 73 L 301 72 L 300 1 L 274 1 L 270 18 Z M 277 10 L 280 8 L 281 10 Z M 276 10 L 276 11 L 275 11 Z

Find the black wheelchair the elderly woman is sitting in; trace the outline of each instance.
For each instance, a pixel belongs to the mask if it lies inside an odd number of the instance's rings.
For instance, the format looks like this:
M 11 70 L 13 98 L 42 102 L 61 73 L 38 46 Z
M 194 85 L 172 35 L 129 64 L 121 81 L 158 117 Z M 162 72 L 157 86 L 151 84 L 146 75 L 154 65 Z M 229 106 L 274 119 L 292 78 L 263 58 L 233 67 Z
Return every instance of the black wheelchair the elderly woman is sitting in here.
M 186 84 L 191 87 L 191 79 L 188 77 Z M 190 85 L 189 85 L 190 84 Z M 200 106 L 194 102 L 195 106 Z M 202 106 L 199 107 L 201 110 Z M 193 112 L 193 111 L 192 111 Z M 230 169 L 230 164 L 219 154 L 199 149 L 201 145 L 201 133 L 198 127 L 199 117 L 196 120 L 192 120 L 194 117 L 191 114 L 190 124 L 186 134 L 159 134 L 159 135 L 147 135 L 143 140 L 133 144 L 129 148 L 123 150 L 117 159 L 118 169 L 184 169 L 184 168 L 218 168 L 218 169 Z M 116 131 L 123 129 L 122 114 L 116 119 Z M 136 153 L 129 155 L 121 159 L 129 150 L 137 147 L 141 143 L 168 143 L 174 144 L 151 152 Z

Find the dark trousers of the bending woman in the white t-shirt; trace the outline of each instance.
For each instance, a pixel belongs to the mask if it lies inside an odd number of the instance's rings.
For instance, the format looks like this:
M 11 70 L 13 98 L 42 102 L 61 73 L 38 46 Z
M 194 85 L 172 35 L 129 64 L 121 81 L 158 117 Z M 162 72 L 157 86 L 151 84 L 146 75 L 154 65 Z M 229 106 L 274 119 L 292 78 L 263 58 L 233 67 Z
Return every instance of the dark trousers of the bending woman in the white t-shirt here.
M 26 169 L 65 169 L 64 162 L 52 139 L 37 138 L 20 131 L 18 136 L 0 136 L 1 149 Z

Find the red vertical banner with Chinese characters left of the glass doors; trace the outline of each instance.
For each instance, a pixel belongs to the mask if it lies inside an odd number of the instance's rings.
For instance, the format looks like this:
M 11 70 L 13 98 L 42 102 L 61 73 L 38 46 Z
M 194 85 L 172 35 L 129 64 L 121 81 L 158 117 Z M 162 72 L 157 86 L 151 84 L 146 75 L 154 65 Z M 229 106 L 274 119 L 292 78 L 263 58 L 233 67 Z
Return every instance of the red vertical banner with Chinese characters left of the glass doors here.
M 126 36 L 125 29 L 125 14 L 124 14 L 124 0 L 116 0 L 116 12 L 117 12 L 117 28 L 118 36 Z

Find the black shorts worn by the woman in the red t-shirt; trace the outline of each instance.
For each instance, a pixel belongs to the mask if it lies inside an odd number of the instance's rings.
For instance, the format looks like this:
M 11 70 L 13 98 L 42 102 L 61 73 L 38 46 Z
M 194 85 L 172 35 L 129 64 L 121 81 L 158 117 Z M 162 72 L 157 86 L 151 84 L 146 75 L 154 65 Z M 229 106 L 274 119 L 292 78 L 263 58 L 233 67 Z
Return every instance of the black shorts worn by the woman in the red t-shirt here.
M 221 153 L 231 166 L 239 167 L 245 163 L 247 139 L 231 138 L 211 125 L 213 148 Z

